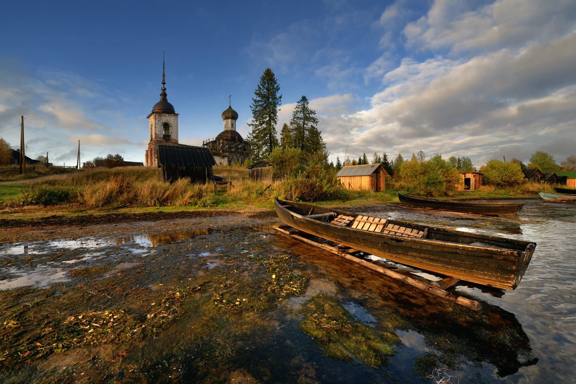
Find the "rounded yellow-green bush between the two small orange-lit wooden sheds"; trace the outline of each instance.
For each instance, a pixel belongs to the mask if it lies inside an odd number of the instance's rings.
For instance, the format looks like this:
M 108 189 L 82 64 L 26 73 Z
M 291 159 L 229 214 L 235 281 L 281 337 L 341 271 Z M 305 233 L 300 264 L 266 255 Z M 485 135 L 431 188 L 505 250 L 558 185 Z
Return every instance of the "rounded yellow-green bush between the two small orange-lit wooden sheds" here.
M 452 195 L 460 184 L 460 173 L 437 153 L 428 160 L 415 156 L 400 166 L 400 189 L 420 196 Z

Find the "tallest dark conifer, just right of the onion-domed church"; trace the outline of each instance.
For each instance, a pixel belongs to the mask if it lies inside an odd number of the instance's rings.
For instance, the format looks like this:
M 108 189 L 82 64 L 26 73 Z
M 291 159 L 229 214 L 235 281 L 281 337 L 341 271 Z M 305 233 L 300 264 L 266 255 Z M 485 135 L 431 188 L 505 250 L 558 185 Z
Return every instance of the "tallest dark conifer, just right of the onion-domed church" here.
M 278 106 L 282 101 L 279 95 L 280 86 L 270 68 L 266 68 L 260 83 L 254 91 L 255 98 L 252 98 L 252 122 L 248 125 L 252 127 L 249 134 L 249 141 L 253 147 L 253 159 L 260 160 L 267 158 L 272 149 L 278 147 L 276 137 L 276 123 L 278 122 Z

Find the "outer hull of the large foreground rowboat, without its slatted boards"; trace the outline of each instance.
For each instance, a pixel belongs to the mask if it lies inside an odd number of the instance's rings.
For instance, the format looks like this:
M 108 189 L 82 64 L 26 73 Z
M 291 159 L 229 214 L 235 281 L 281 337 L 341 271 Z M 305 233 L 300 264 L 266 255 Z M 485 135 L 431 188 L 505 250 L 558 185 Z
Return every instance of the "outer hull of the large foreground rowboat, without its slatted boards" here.
M 308 210 L 313 210 L 315 214 L 334 211 L 303 203 L 276 200 L 276 213 L 280 220 L 310 235 L 323 237 L 408 266 L 502 289 L 516 288 L 528 268 L 536 247 L 535 243 L 528 241 L 418 225 L 411 226 L 428 228 L 429 236 L 433 236 L 434 240 L 374 233 L 306 218 L 302 214 L 286 209 L 282 206 L 282 202 L 299 206 L 304 215 L 309 214 Z M 336 213 L 357 216 L 349 212 Z M 450 242 L 462 236 L 465 236 L 470 243 L 494 241 L 494 239 L 507 240 L 518 249 L 495 249 Z

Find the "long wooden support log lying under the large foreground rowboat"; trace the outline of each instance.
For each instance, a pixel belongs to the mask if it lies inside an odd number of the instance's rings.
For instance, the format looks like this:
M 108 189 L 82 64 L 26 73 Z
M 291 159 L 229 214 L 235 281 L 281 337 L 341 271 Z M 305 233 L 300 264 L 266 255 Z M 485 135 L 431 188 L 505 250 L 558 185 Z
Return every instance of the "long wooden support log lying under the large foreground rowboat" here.
M 306 239 L 305 237 L 302 237 L 302 236 L 293 235 L 290 231 L 286 231 L 286 229 L 279 228 L 278 226 L 275 226 L 274 229 L 276 229 L 276 231 L 281 232 L 285 235 L 289 235 L 293 239 L 300 240 L 306 244 L 314 245 L 314 247 L 324 249 L 325 251 L 328 251 L 331 254 L 338 255 L 341 258 L 344 258 L 344 259 L 349 260 L 351 262 L 360 264 L 361 266 L 370 268 L 371 270 L 379 272 L 382 275 L 385 275 L 389 278 L 395 279 L 397 281 L 401 281 L 401 282 L 406 283 L 406 284 L 408 284 L 412 287 L 415 287 L 417 289 L 427 291 L 427 292 L 429 292 L 433 295 L 436 295 L 438 297 L 441 297 L 441 298 L 444 298 L 446 300 L 455 302 L 456 304 L 462 305 L 462 306 L 464 306 L 468 309 L 471 309 L 475 312 L 482 312 L 482 305 L 478 301 L 471 300 L 471 299 L 461 297 L 461 296 L 455 296 L 452 293 L 445 291 L 444 289 L 441 289 L 437 286 L 427 284 L 425 282 L 416 280 L 414 278 L 399 274 L 398 272 L 391 271 L 388 268 L 384 268 L 384 267 L 378 266 L 374 263 L 370 263 L 366 260 L 358 259 L 354 256 L 348 255 L 347 252 L 356 251 L 355 249 L 350 249 L 346 252 L 342 252 L 336 247 L 331 247 L 330 245 L 327 245 L 327 244 L 317 243 L 316 241 Z

